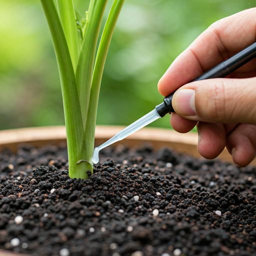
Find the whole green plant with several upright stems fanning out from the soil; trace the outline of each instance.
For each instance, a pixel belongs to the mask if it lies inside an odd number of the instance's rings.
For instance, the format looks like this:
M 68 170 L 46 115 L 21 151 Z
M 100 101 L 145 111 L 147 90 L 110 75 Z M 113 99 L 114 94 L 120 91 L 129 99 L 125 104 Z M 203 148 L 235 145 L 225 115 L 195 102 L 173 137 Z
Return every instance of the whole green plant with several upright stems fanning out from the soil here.
M 57 8 L 56 3 L 57 2 Z M 69 176 L 87 178 L 93 171 L 98 94 L 113 29 L 124 0 L 114 0 L 96 52 L 107 0 L 91 0 L 78 36 L 72 0 L 40 0 L 57 58 L 64 104 Z M 85 30 L 85 33 L 84 33 Z

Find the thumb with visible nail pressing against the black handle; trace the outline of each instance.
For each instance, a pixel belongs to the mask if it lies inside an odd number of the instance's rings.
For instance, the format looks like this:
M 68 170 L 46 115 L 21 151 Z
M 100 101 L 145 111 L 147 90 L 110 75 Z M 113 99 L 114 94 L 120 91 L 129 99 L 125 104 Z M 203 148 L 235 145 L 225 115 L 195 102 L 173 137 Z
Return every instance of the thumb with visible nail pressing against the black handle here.
M 191 120 L 256 124 L 256 77 L 185 84 L 174 93 L 172 106 L 177 114 Z

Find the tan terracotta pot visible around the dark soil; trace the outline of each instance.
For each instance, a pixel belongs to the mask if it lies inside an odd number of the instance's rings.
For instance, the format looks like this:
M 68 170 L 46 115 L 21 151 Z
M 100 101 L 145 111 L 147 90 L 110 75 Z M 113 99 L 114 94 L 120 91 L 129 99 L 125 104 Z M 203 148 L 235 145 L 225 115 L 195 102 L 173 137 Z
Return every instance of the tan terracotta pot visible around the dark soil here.
M 118 131 L 123 126 L 96 126 L 95 131 L 95 145 L 100 145 Z M 0 131 L 0 150 L 3 148 L 9 148 L 15 151 L 19 143 L 31 143 L 38 147 L 45 144 L 58 144 L 60 142 L 66 142 L 66 132 L 64 126 L 45 126 L 45 127 L 31 127 L 31 128 L 19 128 Z M 116 146 L 120 143 L 125 143 L 128 146 L 139 145 L 143 142 L 150 142 L 155 149 L 161 146 L 169 146 L 174 148 L 178 152 L 188 153 L 195 157 L 201 157 L 197 152 L 197 134 L 195 132 L 189 132 L 186 134 L 178 133 L 174 130 L 164 128 L 142 128 L 137 132 L 131 134 L 124 140 L 118 141 L 113 144 Z M 226 150 L 218 156 L 218 158 L 232 162 L 232 157 Z M 256 160 L 251 163 L 256 166 Z M 24 255 L 6 252 L 0 250 L 0 256 L 14 256 Z

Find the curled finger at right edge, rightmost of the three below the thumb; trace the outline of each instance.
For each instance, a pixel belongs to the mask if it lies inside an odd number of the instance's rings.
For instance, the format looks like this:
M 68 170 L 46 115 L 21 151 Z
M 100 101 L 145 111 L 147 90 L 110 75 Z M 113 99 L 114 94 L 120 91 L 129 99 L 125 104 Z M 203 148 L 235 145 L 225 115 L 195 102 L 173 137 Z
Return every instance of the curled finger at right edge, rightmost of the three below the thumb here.
M 256 152 L 256 126 L 238 125 L 227 137 L 226 148 L 238 166 L 248 165 Z

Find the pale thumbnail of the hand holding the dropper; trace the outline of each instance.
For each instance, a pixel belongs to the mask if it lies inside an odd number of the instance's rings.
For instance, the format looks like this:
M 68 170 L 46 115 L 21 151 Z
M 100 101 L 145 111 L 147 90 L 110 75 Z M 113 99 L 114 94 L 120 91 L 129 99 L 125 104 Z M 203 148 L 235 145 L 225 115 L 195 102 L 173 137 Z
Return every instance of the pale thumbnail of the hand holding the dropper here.
M 193 89 L 182 89 L 175 94 L 174 105 L 182 115 L 196 115 Z

